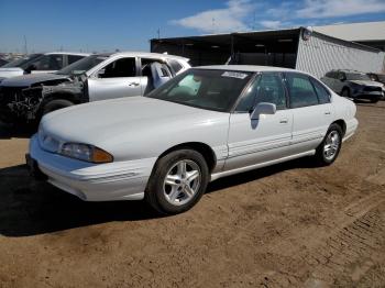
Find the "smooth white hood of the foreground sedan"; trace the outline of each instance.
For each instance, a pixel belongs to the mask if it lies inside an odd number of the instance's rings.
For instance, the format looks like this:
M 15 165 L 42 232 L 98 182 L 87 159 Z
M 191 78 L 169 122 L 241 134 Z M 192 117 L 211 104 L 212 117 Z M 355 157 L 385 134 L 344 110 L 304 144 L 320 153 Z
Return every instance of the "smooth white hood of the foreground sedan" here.
M 130 97 L 62 109 L 45 115 L 41 130 L 61 142 L 103 146 L 123 136 L 139 140 L 144 134 L 169 136 L 216 121 L 228 122 L 229 113 L 193 108 L 168 101 Z M 226 120 L 227 119 L 227 120 Z M 124 134 L 124 135 L 123 135 Z

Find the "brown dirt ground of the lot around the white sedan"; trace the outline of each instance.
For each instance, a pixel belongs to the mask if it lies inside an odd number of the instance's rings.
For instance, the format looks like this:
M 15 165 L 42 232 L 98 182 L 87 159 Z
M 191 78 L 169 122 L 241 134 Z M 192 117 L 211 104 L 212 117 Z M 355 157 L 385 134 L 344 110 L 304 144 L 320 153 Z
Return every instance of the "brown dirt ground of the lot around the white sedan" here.
M 385 287 L 385 102 L 358 118 L 332 166 L 220 179 L 167 218 L 34 182 L 0 128 L 0 287 Z

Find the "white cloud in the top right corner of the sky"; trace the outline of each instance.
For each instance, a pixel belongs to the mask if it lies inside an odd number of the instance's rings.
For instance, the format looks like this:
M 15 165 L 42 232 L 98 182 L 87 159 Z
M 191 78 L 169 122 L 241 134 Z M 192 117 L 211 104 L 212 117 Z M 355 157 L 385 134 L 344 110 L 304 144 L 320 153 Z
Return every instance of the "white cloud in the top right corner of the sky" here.
M 299 18 L 336 18 L 385 11 L 383 0 L 305 0 L 305 7 L 296 12 Z

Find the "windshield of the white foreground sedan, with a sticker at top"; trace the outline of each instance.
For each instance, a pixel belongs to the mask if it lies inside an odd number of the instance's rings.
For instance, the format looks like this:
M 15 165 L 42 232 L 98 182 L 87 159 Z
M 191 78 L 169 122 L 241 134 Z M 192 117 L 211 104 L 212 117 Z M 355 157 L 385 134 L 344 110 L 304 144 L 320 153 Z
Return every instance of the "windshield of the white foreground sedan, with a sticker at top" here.
M 229 112 L 251 77 L 249 71 L 189 69 L 147 97 Z

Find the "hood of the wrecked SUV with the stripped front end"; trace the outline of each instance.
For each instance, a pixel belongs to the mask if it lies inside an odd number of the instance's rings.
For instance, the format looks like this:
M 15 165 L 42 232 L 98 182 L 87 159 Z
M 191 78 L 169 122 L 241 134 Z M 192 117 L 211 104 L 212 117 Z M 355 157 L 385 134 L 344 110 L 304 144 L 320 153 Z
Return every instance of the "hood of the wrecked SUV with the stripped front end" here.
M 34 84 L 46 82 L 52 80 L 66 79 L 68 75 L 58 75 L 52 73 L 29 74 L 8 78 L 1 81 L 3 87 L 30 87 Z

